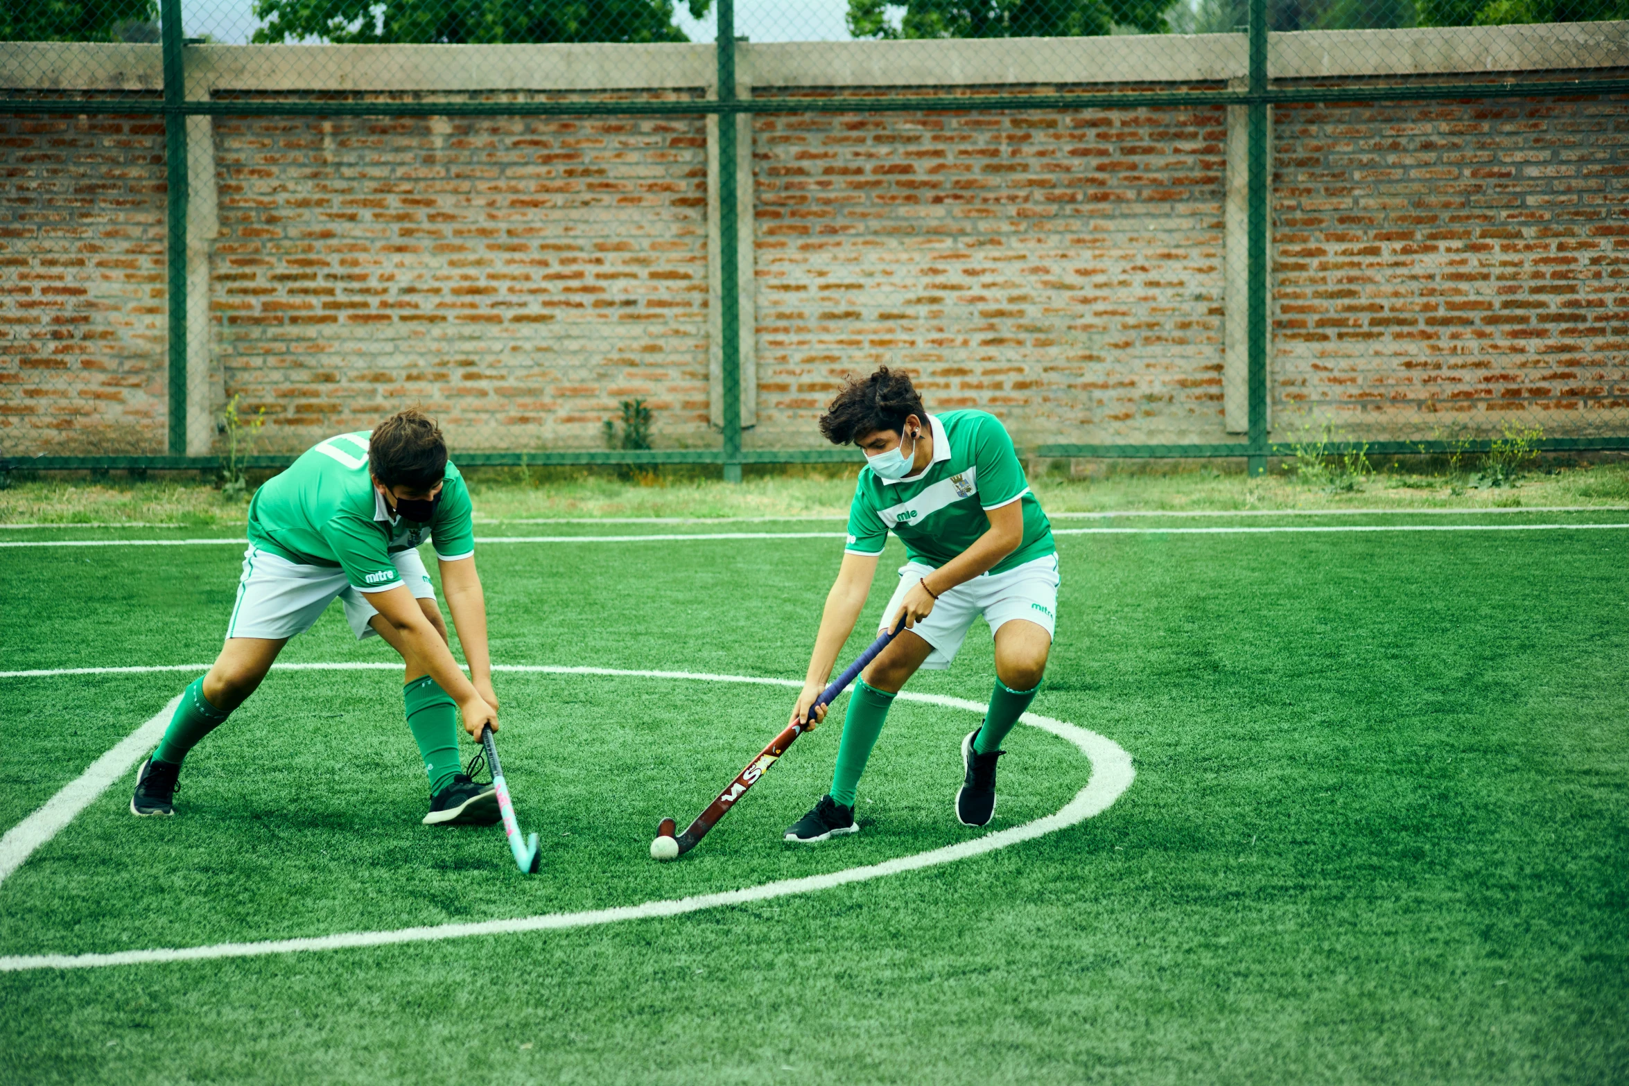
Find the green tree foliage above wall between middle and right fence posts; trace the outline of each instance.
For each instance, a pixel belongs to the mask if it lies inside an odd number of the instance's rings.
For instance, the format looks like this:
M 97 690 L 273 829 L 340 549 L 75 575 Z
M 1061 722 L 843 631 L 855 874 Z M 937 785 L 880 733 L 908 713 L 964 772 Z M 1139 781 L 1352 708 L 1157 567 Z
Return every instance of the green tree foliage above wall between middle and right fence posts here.
M 855 37 L 1083 37 L 1131 26 L 1163 34 L 1181 0 L 849 0 Z M 904 8 L 899 26 L 888 8 Z

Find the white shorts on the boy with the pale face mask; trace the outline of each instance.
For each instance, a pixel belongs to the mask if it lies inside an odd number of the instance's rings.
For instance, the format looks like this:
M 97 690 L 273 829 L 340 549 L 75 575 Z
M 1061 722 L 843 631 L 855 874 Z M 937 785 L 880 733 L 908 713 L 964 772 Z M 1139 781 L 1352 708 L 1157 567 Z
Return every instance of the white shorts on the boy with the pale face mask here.
M 899 588 L 894 589 L 883 609 L 883 622 L 876 627 L 878 633 L 886 630 L 888 624 L 899 614 L 911 586 L 932 571 L 933 567 L 920 562 L 906 562 L 899 567 Z M 990 624 L 990 633 L 1013 619 L 1023 619 L 1034 622 L 1051 637 L 1057 625 L 1056 612 L 1057 555 L 1049 554 L 1005 573 L 981 573 L 971 581 L 956 585 L 948 593 L 940 594 L 933 611 L 911 627 L 911 632 L 933 646 L 933 653 L 922 666 L 943 671 L 961 651 L 968 628 L 981 614 Z

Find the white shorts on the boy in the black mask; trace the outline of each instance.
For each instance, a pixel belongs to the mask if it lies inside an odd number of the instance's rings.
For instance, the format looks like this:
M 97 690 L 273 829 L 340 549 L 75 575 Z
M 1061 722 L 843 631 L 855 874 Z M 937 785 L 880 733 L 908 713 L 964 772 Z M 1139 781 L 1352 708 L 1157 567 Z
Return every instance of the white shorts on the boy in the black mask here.
M 435 599 L 430 571 L 417 550 L 399 550 L 391 555 L 401 583 L 412 591 L 414 599 Z M 394 585 L 391 588 L 396 588 Z M 264 637 L 285 640 L 310 630 L 334 602 L 345 602 L 345 622 L 360 642 L 378 637 L 368 619 L 380 614 L 345 580 L 345 571 L 326 565 L 300 565 L 282 555 L 249 547 L 243 552 L 243 576 L 238 578 L 238 602 L 226 624 L 226 637 Z

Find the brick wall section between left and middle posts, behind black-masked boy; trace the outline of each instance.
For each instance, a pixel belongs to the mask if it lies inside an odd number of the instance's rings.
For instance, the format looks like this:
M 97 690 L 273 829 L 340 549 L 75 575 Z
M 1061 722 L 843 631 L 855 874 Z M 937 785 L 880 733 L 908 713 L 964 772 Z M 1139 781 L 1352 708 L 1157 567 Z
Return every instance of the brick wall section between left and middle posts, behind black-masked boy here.
M 223 117 L 212 308 L 269 448 L 420 404 L 464 449 L 707 443 L 700 117 Z

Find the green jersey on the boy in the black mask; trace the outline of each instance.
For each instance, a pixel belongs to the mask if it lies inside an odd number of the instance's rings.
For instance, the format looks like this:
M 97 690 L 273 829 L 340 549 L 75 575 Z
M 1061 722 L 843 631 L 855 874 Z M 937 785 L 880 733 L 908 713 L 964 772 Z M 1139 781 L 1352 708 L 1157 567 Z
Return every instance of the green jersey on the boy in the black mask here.
M 391 554 L 428 541 L 443 562 L 476 552 L 469 488 L 451 462 L 441 477 L 435 519 L 391 516 L 368 474 L 368 435 L 342 433 L 314 444 L 283 474 L 254 492 L 249 542 L 300 565 L 345 570 L 363 593 L 402 583 Z

